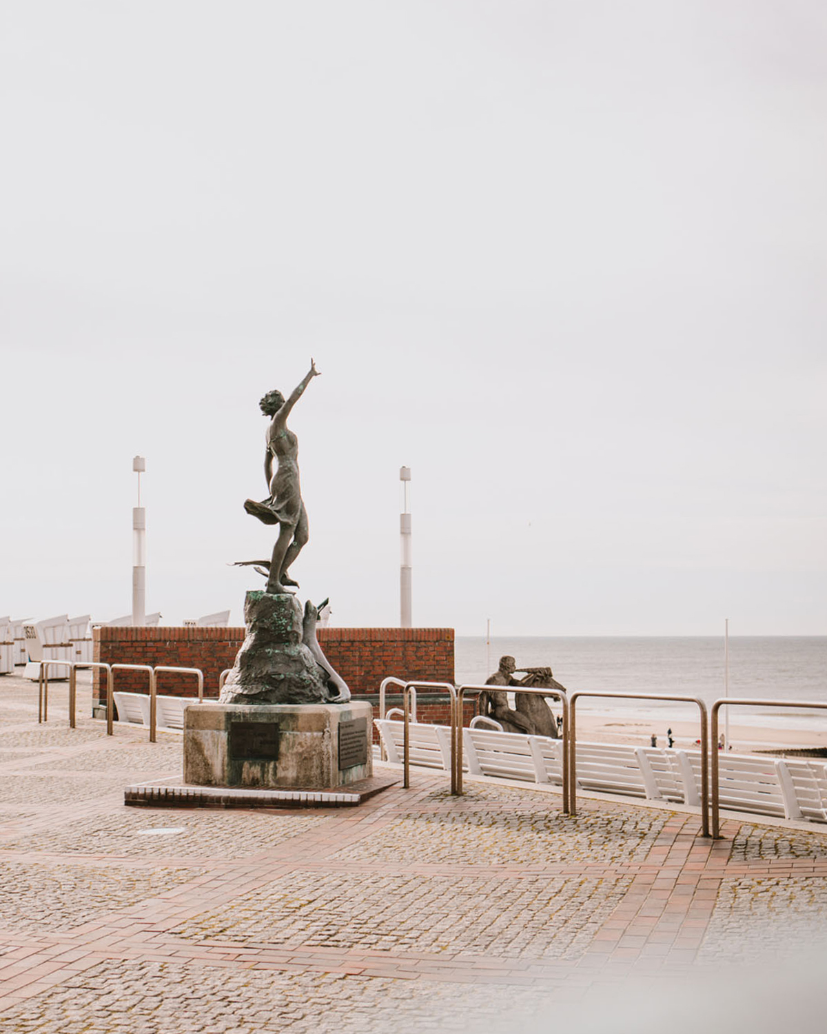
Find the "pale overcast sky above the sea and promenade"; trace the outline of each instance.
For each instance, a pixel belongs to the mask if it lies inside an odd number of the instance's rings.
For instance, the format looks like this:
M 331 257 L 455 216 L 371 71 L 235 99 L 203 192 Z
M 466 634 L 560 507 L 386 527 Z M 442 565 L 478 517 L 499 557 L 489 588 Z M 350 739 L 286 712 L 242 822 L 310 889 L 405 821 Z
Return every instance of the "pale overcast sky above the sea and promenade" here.
M 2 0 L 0 614 L 827 633 L 823 0 Z

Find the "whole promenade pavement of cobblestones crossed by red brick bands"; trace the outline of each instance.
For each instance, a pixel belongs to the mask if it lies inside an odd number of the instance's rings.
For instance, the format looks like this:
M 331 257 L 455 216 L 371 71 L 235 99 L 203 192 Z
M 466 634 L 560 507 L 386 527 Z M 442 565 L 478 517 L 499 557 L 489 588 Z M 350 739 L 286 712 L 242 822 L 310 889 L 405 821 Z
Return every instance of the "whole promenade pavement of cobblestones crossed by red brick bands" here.
M 422 770 L 358 809 L 124 808 L 180 774 L 180 737 L 105 736 L 88 679 L 69 729 L 65 696 L 38 726 L 36 686 L 0 678 L 4 1031 L 544 1030 L 601 989 L 827 950 L 818 826 L 712 844 L 693 814 L 584 796 L 571 819 Z

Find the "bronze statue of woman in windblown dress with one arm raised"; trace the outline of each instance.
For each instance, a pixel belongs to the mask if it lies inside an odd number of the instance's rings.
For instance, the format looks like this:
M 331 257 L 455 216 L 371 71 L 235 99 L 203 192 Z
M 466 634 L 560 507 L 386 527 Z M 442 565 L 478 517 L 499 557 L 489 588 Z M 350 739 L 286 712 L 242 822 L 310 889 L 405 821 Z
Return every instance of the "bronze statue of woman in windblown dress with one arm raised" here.
M 273 556 L 270 560 L 267 579 L 267 591 L 273 595 L 288 591 L 286 588 L 288 585 L 298 586 L 298 582 L 295 582 L 287 575 L 287 571 L 309 538 L 307 513 L 304 509 L 299 484 L 299 439 L 287 428 L 287 417 L 302 397 L 305 388 L 313 377 L 317 376 L 318 370 L 311 359 L 307 375 L 286 401 L 284 401 L 284 396 L 280 391 L 271 391 L 258 403 L 262 413 L 266 417 L 270 417 L 265 437 L 267 444 L 265 478 L 270 495 L 261 503 L 247 499 L 244 509 L 265 524 L 279 525 L 278 539 L 273 547 Z M 274 458 L 276 460 L 275 472 L 273 470 Z M 266 566 L 266 561 L 263 560 L 247 562 Z

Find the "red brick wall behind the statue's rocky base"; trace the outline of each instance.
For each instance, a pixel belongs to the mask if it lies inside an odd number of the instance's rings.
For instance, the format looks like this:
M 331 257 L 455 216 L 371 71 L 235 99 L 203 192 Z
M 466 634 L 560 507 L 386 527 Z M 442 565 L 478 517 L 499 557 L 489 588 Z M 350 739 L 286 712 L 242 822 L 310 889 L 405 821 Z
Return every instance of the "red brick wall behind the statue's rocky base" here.
M 454 681 L 453 629 L 318 629 L 317 633 L 325 656 L 355 696 L 378 694 L 379 682 L 388 675 L 406 680 Z M 214 698 L 218 696 L 219 675 L 233 667 L 244 629 L 103 626 L 94 629 L 93 636 L 95 661 L 201 668 L 204 695 Z M 101 703 L 103 696 L 100 676 L 101 672 L 95 671 L 96 703 Z M 144 672 L 115 672 L 116 690 L 147 693 L 148 681 Z M 194 675 L 159 672 L 158 692 L 195 696 L 197 682 Z

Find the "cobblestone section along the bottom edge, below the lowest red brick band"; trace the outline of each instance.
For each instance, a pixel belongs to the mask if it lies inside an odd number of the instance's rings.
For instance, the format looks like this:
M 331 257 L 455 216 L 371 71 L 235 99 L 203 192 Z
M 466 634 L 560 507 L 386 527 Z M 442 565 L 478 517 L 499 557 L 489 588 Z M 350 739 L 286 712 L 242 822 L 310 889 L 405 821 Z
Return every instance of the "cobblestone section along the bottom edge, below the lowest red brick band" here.
M 153 991 L 153 989 L 156 989 Z M 160 989 L 163 992 L 160 993 Z M 197 970 L 103 963 L 7 1013 L 20 1034 L 364 1034 L 506 1031 L 534 1020 L 548 992 L 427 984 L 333 973 Z M 469 1020 L 469 1015 L 473 1018 Z M 243 1017 L 243 1018 L 241 1018 Z

